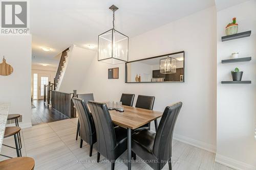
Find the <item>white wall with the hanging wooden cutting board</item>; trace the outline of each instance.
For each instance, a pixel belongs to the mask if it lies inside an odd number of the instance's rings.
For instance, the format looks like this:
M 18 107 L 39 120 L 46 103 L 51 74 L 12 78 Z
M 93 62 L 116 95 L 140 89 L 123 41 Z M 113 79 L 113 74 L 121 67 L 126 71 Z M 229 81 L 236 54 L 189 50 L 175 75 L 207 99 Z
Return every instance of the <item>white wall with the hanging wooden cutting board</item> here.
M 0 59 L 13 67 L 10 76 L 0 76 L 0 101 L 10 102 L 9 113 L 23 115 L 22 127 L 31 126 L 31 35 L 0 36 Z

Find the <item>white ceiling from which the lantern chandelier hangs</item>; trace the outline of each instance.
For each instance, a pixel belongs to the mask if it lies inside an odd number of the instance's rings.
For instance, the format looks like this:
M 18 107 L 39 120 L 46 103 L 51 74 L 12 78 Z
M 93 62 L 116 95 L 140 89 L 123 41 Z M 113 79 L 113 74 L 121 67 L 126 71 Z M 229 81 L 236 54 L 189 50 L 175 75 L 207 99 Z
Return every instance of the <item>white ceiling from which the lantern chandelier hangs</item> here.
M 112 28 L 116 5 L 115 29 L 134 37 L 171 21 L 214 6 L 214 0 L 33 0 L 30 1 L 32 63 L 57 66 L 54 59 L 72 44 L 86 47 L 97 44 L 98 35 Z M 40 47 L 47 46 L 50 52 Z

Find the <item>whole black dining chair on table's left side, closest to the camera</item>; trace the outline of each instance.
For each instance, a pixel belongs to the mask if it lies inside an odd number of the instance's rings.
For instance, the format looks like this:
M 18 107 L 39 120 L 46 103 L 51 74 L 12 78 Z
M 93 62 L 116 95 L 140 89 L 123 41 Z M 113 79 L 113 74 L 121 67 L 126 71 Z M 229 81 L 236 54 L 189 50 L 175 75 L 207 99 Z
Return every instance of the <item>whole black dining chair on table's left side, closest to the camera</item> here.
M 115 167 L 115 160 L 127 149 L 127 130 L 113 126 L 106 104 L 88 102 L 97 134 L 97 162 L 100 154 L 111 161 L 111 169 Z

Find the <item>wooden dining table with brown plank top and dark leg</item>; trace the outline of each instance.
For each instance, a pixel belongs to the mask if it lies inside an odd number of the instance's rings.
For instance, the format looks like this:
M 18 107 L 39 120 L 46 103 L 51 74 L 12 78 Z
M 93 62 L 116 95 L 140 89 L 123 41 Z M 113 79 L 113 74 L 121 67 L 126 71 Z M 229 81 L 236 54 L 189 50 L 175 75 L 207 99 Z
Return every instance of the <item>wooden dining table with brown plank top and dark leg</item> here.
M 135 130 L 147 123 L 162 116 L 162 112 L 141 109 L 131 106 L 124 106 L 123 112 L 116 110 L 109 110 L 112 122 L 122 128 L 127 129 L 127 166 L 131 170 L 132 163 L 132 130 Z

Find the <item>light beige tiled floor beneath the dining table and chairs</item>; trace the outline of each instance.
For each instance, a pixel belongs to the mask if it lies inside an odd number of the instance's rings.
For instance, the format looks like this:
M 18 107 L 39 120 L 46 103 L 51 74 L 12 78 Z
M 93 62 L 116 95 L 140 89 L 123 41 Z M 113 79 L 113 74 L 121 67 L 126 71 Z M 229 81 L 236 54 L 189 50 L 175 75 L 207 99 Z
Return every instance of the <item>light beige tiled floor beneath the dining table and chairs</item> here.
M 79 140 L 75 140 L 77 118 L 60 120 L 48 124 L 40 124 L 23 129 L 22 135 L 23 156 L 35 159 L 35 170 L 41 169 L 110 169 L 111 164 L 106 163 L 103 156 L 101 162 L 96 162 L 97 152 L 93 150 L 93 156 L 89 157 L 89 145 L 83 142 L 79 148 Z M 152 128 L 154 130 L 154 128 Z M 4 144 L 14 145 L 14 138 L 4 139 Z M 227 166 L 214 162 L 215 154 L 193 147 L 189 144 L 173 140 L 173 157 L 178 163 L 173 163 L 174 170 L 231 170 Z M 8 147 L 2 148 L 1 154 L 16 156 L 16 151 Z M 126 170 L 122 163 L 126 152 L 118 158 L 115 169 Z M 6 158 L 0 156 L 0 160 Z M 137 157 L 137 160 L 140 160 Z M 132 163 L 132 169 L 152 169 L 145 163 Z M 165 165 L 164 170 L 168 169 Z

